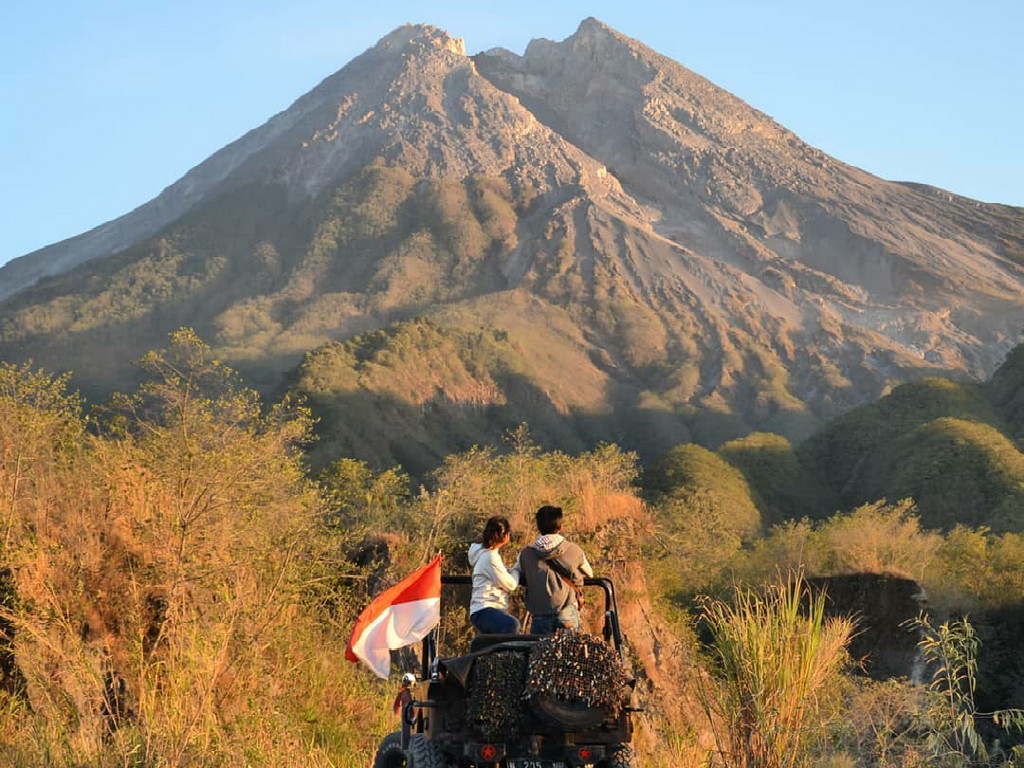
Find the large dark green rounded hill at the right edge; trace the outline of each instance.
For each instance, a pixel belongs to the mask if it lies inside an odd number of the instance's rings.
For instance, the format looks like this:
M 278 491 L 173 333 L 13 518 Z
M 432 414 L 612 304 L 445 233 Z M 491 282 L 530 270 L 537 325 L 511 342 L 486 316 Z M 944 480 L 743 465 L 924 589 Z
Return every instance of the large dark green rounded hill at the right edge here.
M 797 456 L 846 509 L 906 498 L 930 527 L 1022 530 L 1021 349 L 984 385 L 933 378 L 897 387 L 827 424 Z

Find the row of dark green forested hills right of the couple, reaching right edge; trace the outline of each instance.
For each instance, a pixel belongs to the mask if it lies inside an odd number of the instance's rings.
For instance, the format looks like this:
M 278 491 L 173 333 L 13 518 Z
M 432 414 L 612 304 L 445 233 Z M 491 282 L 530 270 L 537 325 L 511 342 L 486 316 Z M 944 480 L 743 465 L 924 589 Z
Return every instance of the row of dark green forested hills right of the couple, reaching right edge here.
M 650 463 L 656 498 L 710 494 L 736 529 L 821 520 L 863 504 L 909 500 L 922 525 L 1024 532 L 1021 392 L 1024 345 L 985 384 L 929 378 L 833 420 L 794 446 L 754 433 L 715 453 L 680 445 Z

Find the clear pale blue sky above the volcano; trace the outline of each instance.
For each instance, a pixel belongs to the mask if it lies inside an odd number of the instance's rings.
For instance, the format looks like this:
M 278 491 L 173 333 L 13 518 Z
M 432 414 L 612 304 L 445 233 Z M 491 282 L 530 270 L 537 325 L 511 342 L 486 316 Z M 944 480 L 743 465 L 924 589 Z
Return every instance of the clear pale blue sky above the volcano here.
M 597 16 L 840 160 L 1024 206 L 1020 0 L 0 5 L 0 263 L 154 198 L 407 22 L 521 53 Z

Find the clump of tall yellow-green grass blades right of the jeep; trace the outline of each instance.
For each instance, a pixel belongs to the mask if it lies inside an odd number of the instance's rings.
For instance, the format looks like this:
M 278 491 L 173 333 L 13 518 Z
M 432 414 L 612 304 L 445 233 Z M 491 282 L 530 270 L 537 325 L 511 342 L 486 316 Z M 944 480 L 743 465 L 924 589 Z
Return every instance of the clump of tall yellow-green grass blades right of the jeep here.
M 824 616 L 825 597 L 799 575 L 764 592 L 737 588 L 731 603 L 705 599 L 718 680 L 698 686 L 715 734 L 711 766 L 807 765 L 824 726 L 821 696 L 838 682 L 853 633 Z

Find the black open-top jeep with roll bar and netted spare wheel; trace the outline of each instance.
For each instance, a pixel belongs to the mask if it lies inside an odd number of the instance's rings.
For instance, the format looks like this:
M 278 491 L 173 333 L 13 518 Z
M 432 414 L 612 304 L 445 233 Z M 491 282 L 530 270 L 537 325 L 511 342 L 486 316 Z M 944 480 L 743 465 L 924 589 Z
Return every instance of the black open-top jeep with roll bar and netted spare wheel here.
M 470 585 L 442 575 L 443 585 Z M 419 679 L 400 706 L 401 730 L 381 742 L 374 768 L 634 768 L 630 706 L 635 680 L 624 666 L 615 591 L 604 596 L 599 636 L 477 635 L 469 653 L 422 645 Z

